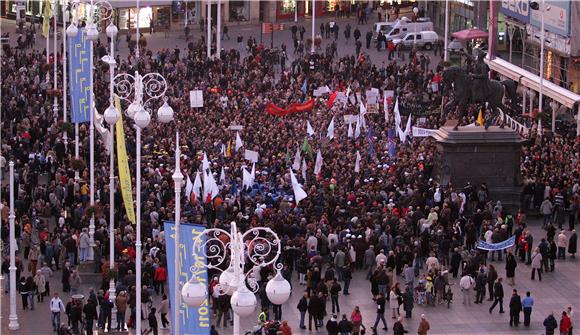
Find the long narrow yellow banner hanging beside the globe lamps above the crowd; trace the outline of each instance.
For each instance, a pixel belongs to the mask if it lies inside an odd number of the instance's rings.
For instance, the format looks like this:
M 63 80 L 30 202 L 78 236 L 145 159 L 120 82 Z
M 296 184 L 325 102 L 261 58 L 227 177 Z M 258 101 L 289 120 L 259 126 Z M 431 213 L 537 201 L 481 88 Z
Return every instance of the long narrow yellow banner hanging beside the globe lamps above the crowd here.
M 132 224 L 135 224 L 135 211 L 133 209 L 133 188 L 131 186 L 131 171 L 129 170 L 129 160 L 127 158 L 127 148 L 125 147 L 125 131 L 123 130 L 123 112 L 121 110 L 121 101 L 115 96 L 115 107 L 119 111 L 119 120 L 117 121 L 117 163 L 119 167 L 119 185 L 121 186 L 121 195 L 123 204 L 127 211 L 127 218 Z

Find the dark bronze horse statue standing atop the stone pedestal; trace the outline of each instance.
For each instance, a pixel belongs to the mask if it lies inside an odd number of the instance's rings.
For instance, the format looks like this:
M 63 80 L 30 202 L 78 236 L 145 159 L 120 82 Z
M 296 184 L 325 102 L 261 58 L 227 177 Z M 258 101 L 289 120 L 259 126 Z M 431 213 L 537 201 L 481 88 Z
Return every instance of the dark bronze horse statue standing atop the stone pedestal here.
M 484 66 L 487 66 L 484 64 Z M 487 74 L 484 73 L 483 76 Z M 500 128 L 503 128 L 506 123 L 507 109 L 502 100 L 504 97 L 510 99 L 513 104 L 516 101 L 516 88 L 518 83 L 508 79 L 503 81 L 487 80 L 482 76 L 468 74 L 466 70 L 458 66 L 450 66 L 443 71 L 443 87 L 444 89 L 452 88 L 453 100 L 447 103 L 444 107 L 445 115 L 457 106 L 459 106 L 459 120 L 453 128 L 458 129 L 459 123 L 465 116 L 467 105 L 478 104 L 487 107 L 491 110 L 493 117 L 488 118 L 485 123 L 485 129 L 490 126 L 491 120 L 499 115 L 499 110 L 504 112 L 503 121 Z

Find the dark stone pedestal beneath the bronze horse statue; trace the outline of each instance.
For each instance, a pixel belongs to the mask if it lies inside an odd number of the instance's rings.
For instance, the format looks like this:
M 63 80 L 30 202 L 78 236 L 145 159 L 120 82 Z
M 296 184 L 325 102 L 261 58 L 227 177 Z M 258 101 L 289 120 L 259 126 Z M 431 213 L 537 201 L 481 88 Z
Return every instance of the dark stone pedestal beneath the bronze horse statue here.
M 441 127 L 433 136 L 438 157 L 435 175 L 442 185 L 455 188 L 467 182 L 485 182 L 494 200 L 519 207 L 521 194 L 520 154 L 524 140 L 512 129 L 499 127 Z

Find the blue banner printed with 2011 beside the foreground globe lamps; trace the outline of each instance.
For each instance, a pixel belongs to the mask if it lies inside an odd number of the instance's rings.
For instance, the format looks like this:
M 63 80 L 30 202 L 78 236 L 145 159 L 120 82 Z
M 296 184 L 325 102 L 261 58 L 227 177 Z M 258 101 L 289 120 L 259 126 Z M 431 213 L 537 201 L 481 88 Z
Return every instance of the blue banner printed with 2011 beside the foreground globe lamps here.
M 179 312 L 179 334 L 180 335 L 207 335 L 210 332 L 211 308 L 209 296 L 200 307 L 189 307 L 180 299 L 175 303 L 175 290 L 181 290 L 183 285 L 189 281 L 191 276 L 197 276 L 199 282 L 209 287 L 207 280 L 207 269 L 201 264 L 207 264 L 207 258 L 201 248 L 205 242 L 205 227 L 197 225 L 181 224 L 179 229 L 179 253 L 175 253 L 175 223 L 165 221 L 165 245 L 167 249 L 167 272 L 169 273 L 169 301 L 171 305 L 171 322 L 175 306 L 178 305 Z M 198 243 L 195 243 L 195 241 Z M 200 243 L 201 242 L 201 243 Z M 175 283 L 175 267 L 180 266 L 179 285 Z

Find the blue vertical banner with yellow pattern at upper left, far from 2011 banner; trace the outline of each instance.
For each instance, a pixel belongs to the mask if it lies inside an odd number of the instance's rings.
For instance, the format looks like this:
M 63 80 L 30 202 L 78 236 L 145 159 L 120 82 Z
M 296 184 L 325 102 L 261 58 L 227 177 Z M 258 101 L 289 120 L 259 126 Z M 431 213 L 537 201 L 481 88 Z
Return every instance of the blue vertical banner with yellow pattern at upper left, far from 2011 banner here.
M 90 122 L 91 46 L 84 29 L 68 38 L 68 78 L 72 123 Z

